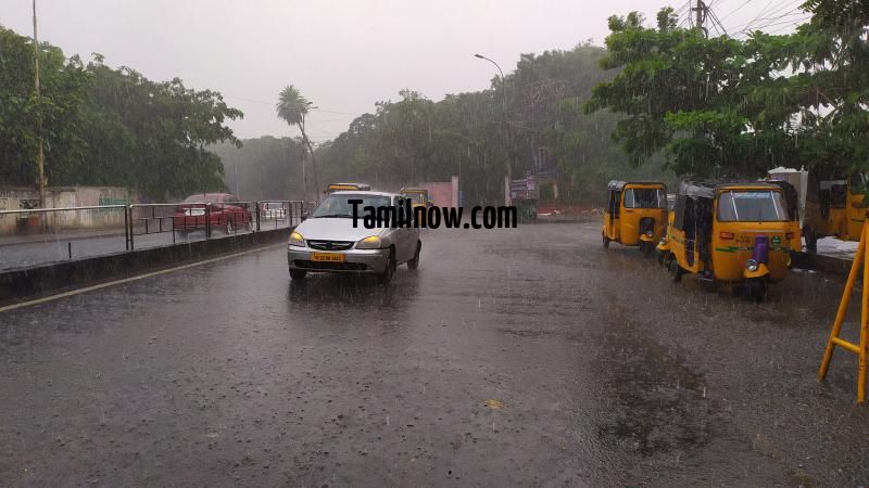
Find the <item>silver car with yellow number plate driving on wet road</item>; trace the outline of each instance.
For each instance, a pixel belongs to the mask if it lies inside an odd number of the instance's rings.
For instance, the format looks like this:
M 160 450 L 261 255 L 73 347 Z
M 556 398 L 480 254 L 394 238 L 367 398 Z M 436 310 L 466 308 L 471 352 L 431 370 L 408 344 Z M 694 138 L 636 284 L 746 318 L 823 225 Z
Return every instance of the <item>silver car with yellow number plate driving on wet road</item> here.
M 353 216 L 353 200 L 362 201 L 356 205 L 358 220 Z M 417 269 L 423 249 L 418 228 L 413 223 L 392 227 L 392 222 L 385 222 L 368 229 L 362 221 L 366 206 L 406 208 L 406 197 L 398 193 L 329 194 L 290 234 L 290 278 L 301 281 L 311 272 L 360 273 L 375 274 L 381 283 L 388 283 L 400 265 Z

